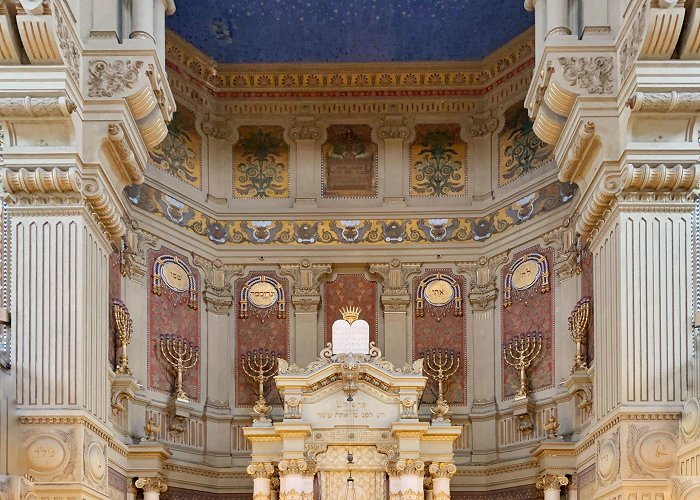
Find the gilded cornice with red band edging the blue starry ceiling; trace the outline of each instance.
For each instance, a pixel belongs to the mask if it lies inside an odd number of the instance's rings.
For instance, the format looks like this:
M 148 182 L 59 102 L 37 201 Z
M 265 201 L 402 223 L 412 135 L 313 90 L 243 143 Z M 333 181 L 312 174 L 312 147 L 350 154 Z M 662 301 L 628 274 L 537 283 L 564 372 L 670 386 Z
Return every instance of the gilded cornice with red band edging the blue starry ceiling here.
M 167 32 L 171 72 L 219 98 L 476 97 L 534 63 L 528 30 L 481 61 L 346 64 L 217 64 Z

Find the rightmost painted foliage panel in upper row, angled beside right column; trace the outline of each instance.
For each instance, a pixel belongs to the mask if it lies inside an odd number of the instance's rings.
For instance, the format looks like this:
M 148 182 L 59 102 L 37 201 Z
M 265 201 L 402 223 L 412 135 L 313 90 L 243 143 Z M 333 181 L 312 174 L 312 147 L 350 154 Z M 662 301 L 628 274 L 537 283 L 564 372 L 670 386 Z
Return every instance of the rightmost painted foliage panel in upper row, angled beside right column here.
M 553 146 L 535 134 L 523 103 L 514 104 L 506 111 L 505 125 L 498 135 L 498 185 L 546 165 L 554 159 L 553 151 Z

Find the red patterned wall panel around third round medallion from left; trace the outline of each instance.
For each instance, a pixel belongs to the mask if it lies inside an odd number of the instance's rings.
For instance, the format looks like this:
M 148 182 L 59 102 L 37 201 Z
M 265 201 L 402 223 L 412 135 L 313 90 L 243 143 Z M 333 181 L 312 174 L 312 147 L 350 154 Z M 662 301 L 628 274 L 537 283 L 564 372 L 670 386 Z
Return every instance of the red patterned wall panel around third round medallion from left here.
M 447 348 L 458 352 L 461 357 L 460 366 L 455 375 L 448 381 L 445 390 L 445 398 L 450 405 L 464 405 L 467 401 L 467 360 L 466 360 L 466 326 L 464 316 L 455 316 L 454 301 L 447 311 L 442 308 L 434 308 L 431 311 L 429 304 L 425 304 L 423 316 L 416 316 L 416 290 L 421 281 L 428 276 L 440 273 L 455 279 L 464 296 L 464 278 L 452 274 L 448 269 L 428 269 L 421 276 L 413 279 L 413 359 L 420 353 L 433 348 Z M 431 314 L 433 312 L 433 314 Z M 437 382 L 429 381 L 423 393 L 424 404 L 433 404 L 437 400 Z

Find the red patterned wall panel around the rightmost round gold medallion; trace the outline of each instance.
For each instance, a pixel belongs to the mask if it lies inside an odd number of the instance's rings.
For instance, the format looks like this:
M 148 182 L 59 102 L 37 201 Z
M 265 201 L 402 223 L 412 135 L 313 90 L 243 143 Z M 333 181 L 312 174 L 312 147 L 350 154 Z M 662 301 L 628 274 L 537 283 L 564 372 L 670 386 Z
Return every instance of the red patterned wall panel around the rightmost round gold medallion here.
M 552 250 L 532 247 L 513 256 L 510 263 L 503 268 L 501 283 L 510 272 L 511 265 L 527 253 L 540 253 L 547 259 L 550 290 L 542 293 L 541 279 L 526 292 L 512 291 L 512 304 L 504 307 L 501 313 L 501 345 L 507 345 L 510 339 L 525 332 L 541 332 L 544 336 L 542 352 L 527 370 L 532 391 L 548 389 L 554 383 L 554 287 L 556 280 L 552 272 Z M 505 285 L 502 286 L 505 289 Z M 520 385 L 518 371 L 501 358 L 503 373 L 503 397 L 515 395 Z

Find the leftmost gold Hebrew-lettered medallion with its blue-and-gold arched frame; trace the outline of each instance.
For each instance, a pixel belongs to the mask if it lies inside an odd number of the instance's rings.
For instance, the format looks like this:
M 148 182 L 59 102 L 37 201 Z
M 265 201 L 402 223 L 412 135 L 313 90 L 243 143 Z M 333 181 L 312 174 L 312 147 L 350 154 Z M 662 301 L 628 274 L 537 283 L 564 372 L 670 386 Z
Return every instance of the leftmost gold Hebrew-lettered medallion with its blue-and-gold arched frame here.
M 173 305 L 187 302 L 189 307 L 197 309 L 197 281 L 190 266 L 175 255 L 156 258 L 153 263 L 152 291 L 156 295 L 165 292 Z

